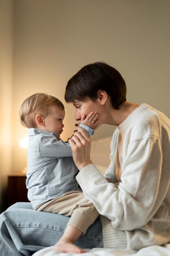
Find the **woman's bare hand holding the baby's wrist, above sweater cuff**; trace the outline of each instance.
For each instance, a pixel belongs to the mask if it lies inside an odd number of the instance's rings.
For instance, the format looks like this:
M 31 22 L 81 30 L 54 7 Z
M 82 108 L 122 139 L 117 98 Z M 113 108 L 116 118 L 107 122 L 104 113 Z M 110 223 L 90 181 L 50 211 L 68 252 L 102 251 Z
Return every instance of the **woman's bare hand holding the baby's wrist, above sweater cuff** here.
M 91 139 L 82 127 L 77 126 L 76 130 L 68 142 L 71 145 L 75 165 L 81 170 L 88 164 L 92 164 L 90 159 Z

